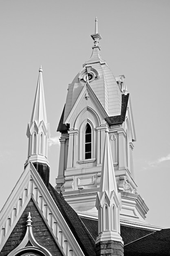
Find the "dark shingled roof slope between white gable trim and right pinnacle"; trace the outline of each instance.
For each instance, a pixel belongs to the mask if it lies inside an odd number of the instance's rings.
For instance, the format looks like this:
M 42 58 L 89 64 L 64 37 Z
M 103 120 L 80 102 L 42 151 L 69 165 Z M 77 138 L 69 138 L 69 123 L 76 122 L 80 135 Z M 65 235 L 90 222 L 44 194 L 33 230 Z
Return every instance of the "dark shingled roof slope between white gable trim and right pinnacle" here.
M 95 256 L 95 240 L 88 232 L 82 220 L 77 213 L 71 208 L 71 206 L 64 200 L 61 194 L 49 184 L 49 192 L 56 203 L 58 209 L 62 213 L 62 216 L 66 220 L 68 227 L 71 229 L 75 239 L 81 247 L 84 255 Z

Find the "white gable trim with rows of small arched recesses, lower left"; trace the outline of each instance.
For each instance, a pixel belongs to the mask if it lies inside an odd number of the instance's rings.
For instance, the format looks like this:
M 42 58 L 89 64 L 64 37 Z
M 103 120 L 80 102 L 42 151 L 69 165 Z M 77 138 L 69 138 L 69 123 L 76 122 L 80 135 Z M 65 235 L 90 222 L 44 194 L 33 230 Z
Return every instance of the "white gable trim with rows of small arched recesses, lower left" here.
M 82 249 L 31 162 L 26 166 L 11 196 L 0 212 L 0 251 L 31 198 L 63 255 L 68 256 L 71 252 L 73 256 L 84 256 Z M 64 245 L 66 242 L 67 246 Z

